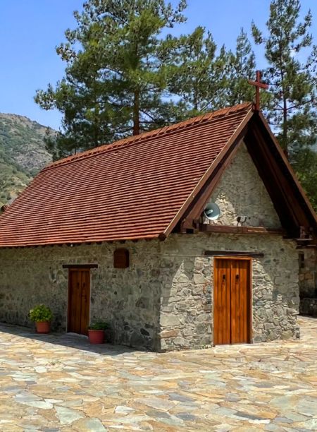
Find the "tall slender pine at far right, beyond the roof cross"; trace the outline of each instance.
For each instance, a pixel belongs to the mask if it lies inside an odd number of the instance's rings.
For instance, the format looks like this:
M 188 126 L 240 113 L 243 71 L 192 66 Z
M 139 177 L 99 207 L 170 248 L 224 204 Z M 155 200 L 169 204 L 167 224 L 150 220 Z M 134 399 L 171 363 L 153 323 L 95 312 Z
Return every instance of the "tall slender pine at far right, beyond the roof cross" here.
M 302 22 L 300 11 L 299 0 L 273 0 L 266 23 L 268 36 L 252 23 L 254 40 L 264 46 L 268 61 L 264 71 L 271 93 L 268 120 L 287 155 L 317 140 L 317 47 L 309 33 L 311 11 Z M 307 50 L 307 60 L 302 61 Z

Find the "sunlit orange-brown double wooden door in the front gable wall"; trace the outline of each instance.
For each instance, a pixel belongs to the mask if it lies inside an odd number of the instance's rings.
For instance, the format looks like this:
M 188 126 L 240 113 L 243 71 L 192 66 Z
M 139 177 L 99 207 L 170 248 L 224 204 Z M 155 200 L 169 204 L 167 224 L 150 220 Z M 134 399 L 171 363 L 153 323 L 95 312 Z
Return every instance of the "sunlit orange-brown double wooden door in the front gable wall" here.
M 213 343 L 251 340 L 251 260 L 215 258 Z

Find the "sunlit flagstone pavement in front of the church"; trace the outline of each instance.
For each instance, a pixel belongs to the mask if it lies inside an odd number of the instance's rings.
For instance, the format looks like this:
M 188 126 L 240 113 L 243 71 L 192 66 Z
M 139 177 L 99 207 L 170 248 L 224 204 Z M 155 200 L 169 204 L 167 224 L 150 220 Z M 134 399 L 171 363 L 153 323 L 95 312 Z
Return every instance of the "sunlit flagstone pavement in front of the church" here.
M 156 354 L 0 325 L 0 431 L 316 431 L 302 339 Z

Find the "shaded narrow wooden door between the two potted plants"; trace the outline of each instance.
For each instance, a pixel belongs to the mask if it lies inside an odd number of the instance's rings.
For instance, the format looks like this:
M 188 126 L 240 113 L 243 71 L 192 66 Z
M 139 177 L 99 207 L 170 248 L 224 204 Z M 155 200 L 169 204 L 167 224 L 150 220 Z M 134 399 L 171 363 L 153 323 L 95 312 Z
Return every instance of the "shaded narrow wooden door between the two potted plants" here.
M 87 335 L 90 303 L 89 268 L 70 268 L 68 277 L 67 331 Z

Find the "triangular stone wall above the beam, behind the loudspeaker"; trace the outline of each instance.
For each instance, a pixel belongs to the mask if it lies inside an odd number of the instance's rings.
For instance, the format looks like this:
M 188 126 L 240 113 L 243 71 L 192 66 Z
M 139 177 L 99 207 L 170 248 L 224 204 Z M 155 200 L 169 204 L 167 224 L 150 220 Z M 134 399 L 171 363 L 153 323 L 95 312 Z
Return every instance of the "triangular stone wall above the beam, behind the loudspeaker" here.
M 223 173 L 210 201 L 218 204 L 221 216 L 216 222 L 205 219 L 206 223 L 237 225 L 237 218 L 242 216 L 246 217 L 244 226 L 280 228 L 271 198 L 244 144 Z

